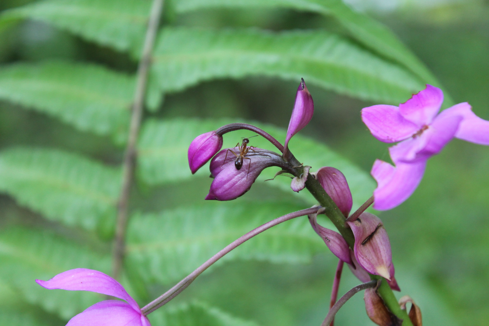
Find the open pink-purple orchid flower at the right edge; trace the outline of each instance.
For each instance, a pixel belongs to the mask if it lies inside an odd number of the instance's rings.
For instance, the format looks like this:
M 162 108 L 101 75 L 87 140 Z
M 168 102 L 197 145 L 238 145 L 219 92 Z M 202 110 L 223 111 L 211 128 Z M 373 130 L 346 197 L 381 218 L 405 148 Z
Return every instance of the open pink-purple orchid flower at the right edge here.
M 362 109 L 362 120 L 378 140 L 400 141 L 389 148 L 396 167 L 376 160 L 371 174 L 377 180 L 374 208 L 388 210 L 400 205 L 421 182 L 426 161 L 453 138 L 489 145 L 489 121 L 477 117 L 468 103 L 437 114 L 443 103 L 440 88 L 426 85 L 399 105 L 375 105 Z

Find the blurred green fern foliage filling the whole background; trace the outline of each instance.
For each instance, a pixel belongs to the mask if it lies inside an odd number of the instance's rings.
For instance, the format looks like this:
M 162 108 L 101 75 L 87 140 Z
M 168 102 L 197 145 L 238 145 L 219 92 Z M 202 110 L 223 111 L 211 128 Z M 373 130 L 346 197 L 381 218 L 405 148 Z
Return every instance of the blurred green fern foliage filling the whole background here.
M 258 2 L 259 8 L 244 1 L 167 1 L 156 56 L 179 60 L 195 51 L 201 57 L 163 67 L 162 59 L 151 76 L 122 280 L 139 304 L 249 229 L 313 203 L 308 194 L 287 190 L 286 179 L 267 184 L 266 177 L 233 202 L 204 202 L 210 180 L 205 171 L 191 177 L 185 162 L 191 139 L 223 118 L 271 124 L 264 128 L 283 140 L 280 128 L 288 124 L 298 78 L 306 78 L 316 110 L 302 131 L 307 137 L 294 137 L 290 148 L 313 170 L 340 168 L 356 205 L 375 186 L 368 176 L 373 161 L 388 159 L 386 144 L 361 123 L 361 108 L 398 104 L 437 79 L 445 96 L 469 102 L 489 119 L 487 1 L 371 13 L 429 70 L 388 30 L 345 11 L 341 2 Z M 69 19 L 56 6 L 49 11 L 45 3 L 0 3 L 0 325 L 64 325 L 101 300 L 44 290 L 33 281 L 74 267 L 110 272 L 125 119 L 150 2 L 72 1 L 143 16 L 100 25 Z M 326 13 L 328 5 L 336 11 Z M 362 25 L 365 19 L 369 24 Z M 204 28 L 198 38 L 195 28 Z M 169 42 L 173 47 L 165 48 Z M 213 57 L 209 49 L 228 57 Z M 229 57 L 233 51 L 239 55 Z M 303 56 L 311 62 L 304 64 Z M 225 142 L 234 145 L 246 135 L 226 134 Z M 253 145 L 261 142 L 256 139 Z M 420 304 L 425 325 L 489 325 L 488 171 L 489 148 L 455 140 L 429 161 L 409 200 L 379 215 L 402 294 Z M 150 315 L 154 325 L 319 325 L 336 259 L 306 227 L 297 219 L 250 240 Z M 345 270 L 340 293 L 357 283 Z M 336 324 L 373 325 L 361 295 L 340 310 Z

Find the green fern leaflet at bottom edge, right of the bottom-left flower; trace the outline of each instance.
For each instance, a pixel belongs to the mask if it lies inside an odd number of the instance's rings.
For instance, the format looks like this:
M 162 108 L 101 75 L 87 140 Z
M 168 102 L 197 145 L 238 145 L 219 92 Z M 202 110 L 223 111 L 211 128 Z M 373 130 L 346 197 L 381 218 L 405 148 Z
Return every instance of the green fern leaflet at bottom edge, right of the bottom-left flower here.
M 153 326 L 257 326 L 200 302 L 169 304 L 148 317 Z

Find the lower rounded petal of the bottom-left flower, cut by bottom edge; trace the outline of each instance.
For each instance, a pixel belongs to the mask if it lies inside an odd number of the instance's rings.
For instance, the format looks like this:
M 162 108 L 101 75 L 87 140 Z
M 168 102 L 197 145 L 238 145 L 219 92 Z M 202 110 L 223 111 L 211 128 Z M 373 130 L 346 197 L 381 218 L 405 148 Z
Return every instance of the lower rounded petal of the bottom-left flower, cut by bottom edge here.
M 67 326 L 147 326 L 146 317 L 130 304 L 106 300 L 85 309 L 70 319 Z

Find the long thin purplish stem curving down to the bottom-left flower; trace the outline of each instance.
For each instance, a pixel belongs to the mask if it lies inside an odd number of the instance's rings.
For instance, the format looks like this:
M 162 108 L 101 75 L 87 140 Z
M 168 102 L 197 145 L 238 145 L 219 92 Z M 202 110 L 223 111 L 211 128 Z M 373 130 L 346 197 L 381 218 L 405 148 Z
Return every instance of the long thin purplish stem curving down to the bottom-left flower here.
M 161 307 L 163 304 L 166 304 L 173 298 L 175 298 L 181 291 L 183 291 L 187 286 L 190 285 L 204 270 L 209 268 L 213 263 L 221 259 L 225 254 L 233 250 L 234 248 L 238 247 L 240 244 L 243 244 L 245 241 L 253 238 L 254 236 L 262 233 L 263 231 L 271 228 L 272 226 L 275 226 L 277 224 L 280 224 L 282 222 L 285 222 L 289 219 L 295 218 L 295 217 L 300 217 L 304 215 L 309 215 L 309 214 L 314 214 L 316 213 L 321 207 L 312 207 L 312 208 L 307 208 L 303 209 L 301 211 L 289 213 L 287 215 L 277 217 L 259 227 L 256 229 L 246 233 L 244 236 L 240 237 L 239 239 L 234 240 L 230 244 L 228 244 L 226 247 L 224 247 L 220 252 L 212 256 L 208 261 L 204 262 L 202 265 L 200 265 L 199 268 L 197 268 L 195 271 L 190 273 L 186 278 L 178 282 L 174 287 L 163 293 L 161 296 L 150 302 L 149 304 L 146 304 L 142 309 L 141 312 L 144 315 L 147 315 L 153 311 L 155 311 L 157 308 Z

